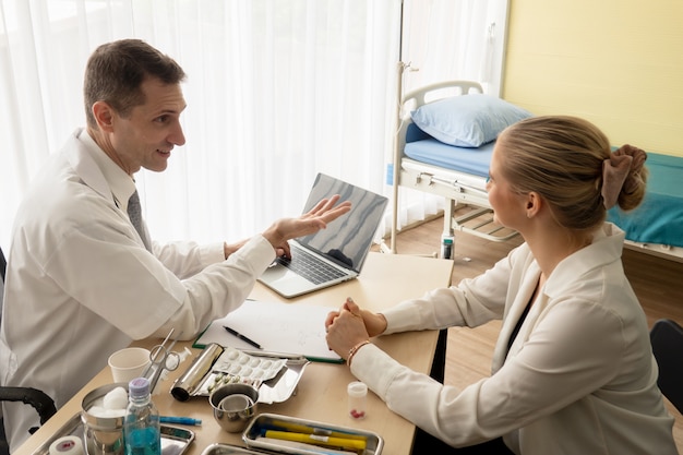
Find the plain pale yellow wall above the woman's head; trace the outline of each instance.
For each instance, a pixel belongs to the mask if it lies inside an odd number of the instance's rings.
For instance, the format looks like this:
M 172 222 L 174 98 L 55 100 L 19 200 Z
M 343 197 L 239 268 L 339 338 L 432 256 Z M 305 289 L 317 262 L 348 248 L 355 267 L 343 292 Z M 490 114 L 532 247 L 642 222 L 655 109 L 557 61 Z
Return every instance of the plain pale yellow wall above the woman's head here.
M 503 97 L 683 156 L 683 1 L 511 0 Z

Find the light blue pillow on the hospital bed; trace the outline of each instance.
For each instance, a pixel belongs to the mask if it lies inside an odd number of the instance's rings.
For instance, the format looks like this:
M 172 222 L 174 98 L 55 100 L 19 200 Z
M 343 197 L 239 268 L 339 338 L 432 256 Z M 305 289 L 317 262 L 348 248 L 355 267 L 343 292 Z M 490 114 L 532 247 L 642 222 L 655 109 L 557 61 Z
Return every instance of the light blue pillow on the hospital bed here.
M 531 112 L 484 94 L 452 96 L 420 106 L 410 113 L 420 130 L 444 144 L 479 147 L 494 141 L 511 124 Z

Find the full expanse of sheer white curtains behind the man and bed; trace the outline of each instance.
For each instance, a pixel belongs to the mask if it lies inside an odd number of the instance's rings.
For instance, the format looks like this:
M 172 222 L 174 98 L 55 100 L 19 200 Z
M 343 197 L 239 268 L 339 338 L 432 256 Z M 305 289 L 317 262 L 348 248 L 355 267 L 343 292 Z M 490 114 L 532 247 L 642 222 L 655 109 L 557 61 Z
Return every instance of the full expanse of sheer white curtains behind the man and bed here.
M 165 172 L 136 176 L 153 236 L 238 240 L 300 213 L 319 171 L 388 194 L 400 43 L 420 68 L 407 89 L 489 77 L 496 91 L 500 62 L 466 36 L 481 39 L 481 11 L 505 3 L 0 0 L 0 246 L 33 175 L 84 124 L 83 70 L 99 44 L 145 39 L 189 75 L 187 144 Z

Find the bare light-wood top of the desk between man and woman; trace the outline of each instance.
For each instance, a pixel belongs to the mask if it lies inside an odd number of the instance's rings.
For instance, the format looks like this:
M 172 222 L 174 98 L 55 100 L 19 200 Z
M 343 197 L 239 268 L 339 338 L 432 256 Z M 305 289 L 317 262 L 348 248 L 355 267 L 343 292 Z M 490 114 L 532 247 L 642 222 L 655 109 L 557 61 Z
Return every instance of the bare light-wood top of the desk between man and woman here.
M 363 308 L 380 311 L 402 300 L 420 297 L 432 288 L 450 285 L 452 268 L 452 261 L 370 253 L 358 279 L 286 301 L 338 308 L 346 297 L 350 296 Z M 251 297 L 259 300 L 284 300 L 260 284 L 256 284 Z M 426 331 L 382 336 L 374 339 L 374 343 L 403 364 L 429 373 L 436 338 L 438 332 Z M 157 343 L 158 339 L 147 339 L 135 345 L 152 347 Z M 191 345 L 178 343 L 176 350 L 180 351 Z M 200 352 L 197 349 L 192 351 L 194 355 Z M 168 375 L 166 381 L 159 383 L 163 392 L 153 396 L 159 412 L 202 419 L 201 427 L 191 427 L 196 439 L 188 454 L 199 455 L 215 442 L 243 446 L 240 433 L 227 433 L 214 421 L 207 398 L 195 397 L 188 402 L 178 402 L 168 392 L 172 381 L 185 371 L 191 360 L 187 359 L 178 370 Z M 31 436 L 15 455 L 33 454 L 46 441 L 51 440 L 64 422 L 81 411 L 81 403 L 86 393 L 111 381 L 111 372 L 109 368 L 105 368 Z M 391 411 L 374 394 L 368 394 L 366 419 L 355 421 L 348 417 L 346 386 L 351 381 L 354 376 L 346 364 L 314 362 L 307 367 L 296 395 L 279 404 L 260 404 L 259 410 L 373 431 L 384 439 L 383 454 L 409 454 L 415 426 Z

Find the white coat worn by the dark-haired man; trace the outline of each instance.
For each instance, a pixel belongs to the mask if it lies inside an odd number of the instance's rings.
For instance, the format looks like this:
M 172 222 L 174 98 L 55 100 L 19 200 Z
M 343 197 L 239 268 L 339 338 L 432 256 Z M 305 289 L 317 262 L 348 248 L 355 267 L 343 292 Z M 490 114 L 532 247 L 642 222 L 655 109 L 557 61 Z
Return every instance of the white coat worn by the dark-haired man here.
M 133 339 L 191 339 L 238 308 L 275 258 L 262 236 L 225 260 L 223 243 L 154 243 L 130 223 L 132 179 L 84 130 L 51 155 L 17 211 L 0 331 L 0 384 L 61 407 Z M 3 404 L 10 450 L 38 424 Z

